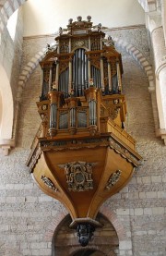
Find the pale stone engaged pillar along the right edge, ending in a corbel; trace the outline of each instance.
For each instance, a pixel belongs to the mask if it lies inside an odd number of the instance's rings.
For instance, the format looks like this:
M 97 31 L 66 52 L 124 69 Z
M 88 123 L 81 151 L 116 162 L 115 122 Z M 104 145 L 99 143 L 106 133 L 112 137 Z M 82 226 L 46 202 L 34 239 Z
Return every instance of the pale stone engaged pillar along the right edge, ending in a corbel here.
M 160 123 L 160 128 L 156 129 L 156 134 L 157 136 L 160 136 L 166 143 L 166 47 L 163 19 L 161 18 L 159 11 L 154 12 L 152 9 L 149 9 L 149 12 L 146 14 L 146 26 L 149 30 L 155 62 L 156 80 L 154 80 L 154 83 L 156 82 L 156 102 Z M 151 96 L 153 96 L 152 99 L 154 100 L 154 90 L 151 88 L 151 86 L 149 86 L 149 89 L 149 91 L 152 92 Z M 155 101 L 152 102 L 152 106 L 154 104 L 156 104 Z M 153 114 L 155 113 L 156 111 L 153 111 Z M 155 128 L 158 127 L 158 125 L 156 125 Z

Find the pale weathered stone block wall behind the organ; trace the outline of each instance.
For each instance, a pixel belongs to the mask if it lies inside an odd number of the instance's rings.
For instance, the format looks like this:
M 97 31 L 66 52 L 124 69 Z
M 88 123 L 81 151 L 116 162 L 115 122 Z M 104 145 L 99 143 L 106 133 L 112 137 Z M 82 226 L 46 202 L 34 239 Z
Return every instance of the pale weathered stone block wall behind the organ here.
M 145 28 L 113 33 L 113 36 L 137 43 L 136 47 L 142 51 L 148 49 Z M 25 38 L 22 67 L 46 43 L 52 42 L 53 37 Z M 108 215 L 114 214 L 118 223 L 114 225 L 119 238 L 118 255 L 165 256 L 166 148 L 155 137 L 148 79 L 131 55 L 122 54 L 127 101 L 125 129 L 137 140 L 137 151 L 144 161 L 129 185 L 106 201 L 103 207 L 109 209 Z M 40 95 L 40 73 L 40 67 L 36 67 L 22 93 L 17 147 L 8 156 L 0 155 L 0 255 L 50 256 L 53 231 L 58 230 L 58 220 L 66 214 L 60 202 L 41 192 L 26 166 L 30 144 L 41 123 L 35 104 Z M 120 238 L 120 225 L 124 227 L 125 238 Z

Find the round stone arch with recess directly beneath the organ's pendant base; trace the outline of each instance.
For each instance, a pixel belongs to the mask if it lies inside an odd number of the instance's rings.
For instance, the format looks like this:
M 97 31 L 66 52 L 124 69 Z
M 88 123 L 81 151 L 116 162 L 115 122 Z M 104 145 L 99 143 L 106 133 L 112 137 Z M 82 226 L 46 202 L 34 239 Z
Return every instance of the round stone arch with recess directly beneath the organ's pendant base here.
M 101 218 L 100 222 L 103 225 L 103 229 L 96 230 L 96 234 L 94 233 L 94 238 L 89 243 L 89 245 L 86 247 L 86 250 L 94 250 L 99 251 L 103 253 L 103 255 L 106 256 L 115 256 L 118 252 L 118 244 L 121 241 L 121 239 L 124 241 L 125 231 L 124 226 L 121 224 L 118 217 L 110 211 L 110 209 L 103 208 L 102 209 L 105 213 L 107 212 L 107 216 L 103 215 L 102 213 L 99 213 L 97 218 Z M 69 214 L 66 214 L 64 218 L 62 218 L 62 214 L 59 213 L 57 215 L 57 218 L 59 220 L 50 224 L 49 231 L 46 233 L 45 238 L 49 242 L 52 240 L 53 244 L 53 251 L 52 255 L 64 255 L 64 256 L 73 256 L 75 253 L 77 253 L 80 250 L 84 250 L 85 248 L 81 248 L 80 245 L 77 242 L 77 233 L 76 230 L 68 228 L 69 224 L 71 223 L 71 218 Z M 111 222 L 113 221 L 113 223 Z M 109 227 L 110 226 L 110 227 Z M 106 228 L 106 229 L 104 229 Z M 109 231 L 110 229 L 110 231 Z M 107 231 L 105 231 L 107 230 Z M 114 230 L 114 231 L 113 231 Z M 102 235 L 106 232 L 111 232 L 108 237 L 106 235 Z M 114 232 L 114 235 L 113 235 Z M 110 237 L 112 234 L 113 237 Z M 118 234 L 120 235 L 120 238 L 118 237 Z M 49 238 L 49 239 L 48 239 Z M 61 246 L 61 240 L 62 246 Z M 56 245 L 54 244 L 56 243 Z

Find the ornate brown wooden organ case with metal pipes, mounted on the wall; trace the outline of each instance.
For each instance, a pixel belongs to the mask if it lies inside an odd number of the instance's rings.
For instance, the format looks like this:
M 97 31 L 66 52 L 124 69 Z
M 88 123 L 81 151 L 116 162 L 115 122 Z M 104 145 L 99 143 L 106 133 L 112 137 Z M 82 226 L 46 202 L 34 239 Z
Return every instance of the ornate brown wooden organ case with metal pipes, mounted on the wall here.
M 77 17 L 59 29 L 41 61 L 41 127 L 28 160 L 30 173 L 72 217 L 89 243 L 103 201 L 123 189 L 139 165 L 136 141 L 125 131 L 123 65 L 101 24 Z

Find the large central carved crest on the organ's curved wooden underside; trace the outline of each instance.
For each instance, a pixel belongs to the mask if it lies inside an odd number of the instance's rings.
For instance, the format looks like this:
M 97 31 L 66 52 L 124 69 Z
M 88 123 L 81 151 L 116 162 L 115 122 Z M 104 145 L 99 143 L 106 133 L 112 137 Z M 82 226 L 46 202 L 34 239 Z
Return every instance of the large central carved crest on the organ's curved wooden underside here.
M 66 183 L 70 191 L 87 191 L 93 189 L 92 165 L 95 164 L 79 161 L 59 165 L 65 169 Z

